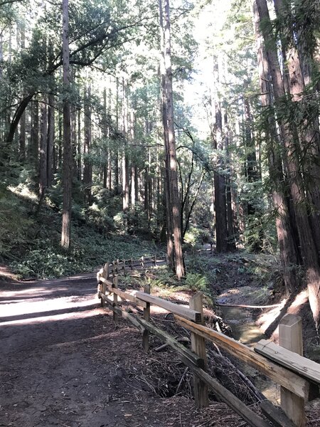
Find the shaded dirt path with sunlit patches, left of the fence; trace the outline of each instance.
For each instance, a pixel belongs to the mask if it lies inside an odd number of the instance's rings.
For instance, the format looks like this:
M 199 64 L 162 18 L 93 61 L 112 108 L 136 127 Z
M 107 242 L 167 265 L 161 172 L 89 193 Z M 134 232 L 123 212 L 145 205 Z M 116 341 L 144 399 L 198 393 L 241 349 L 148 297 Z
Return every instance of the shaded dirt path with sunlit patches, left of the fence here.
M 137 379 L 141 336 L 100 308 L 96 287 L 93 275 L 1 283 L 0 426 L 194 422 L 188 399 L 160 399 Z

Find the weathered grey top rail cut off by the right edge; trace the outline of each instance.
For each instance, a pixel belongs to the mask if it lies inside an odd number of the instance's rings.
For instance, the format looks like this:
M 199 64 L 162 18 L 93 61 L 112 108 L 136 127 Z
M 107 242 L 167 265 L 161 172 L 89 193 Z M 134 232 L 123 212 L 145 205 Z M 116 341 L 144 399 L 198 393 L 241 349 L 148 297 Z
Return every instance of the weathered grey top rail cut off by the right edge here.
M 277 362 L 282 367 L 296 372 L 300 376 L 304 376 L 304 378 L 320 384 L 320 364 L 306 359 L 306 357 L 290 352 L 267 339 L 261 339 L 255 344 L 255 352 Z

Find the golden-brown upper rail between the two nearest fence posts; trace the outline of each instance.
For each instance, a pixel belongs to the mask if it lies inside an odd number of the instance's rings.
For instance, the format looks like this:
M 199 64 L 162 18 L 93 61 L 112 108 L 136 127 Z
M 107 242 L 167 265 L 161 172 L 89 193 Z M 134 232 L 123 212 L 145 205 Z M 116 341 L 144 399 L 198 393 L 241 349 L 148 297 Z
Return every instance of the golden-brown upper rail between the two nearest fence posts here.
M 289 389 L 298 396 L 304 398 L 304 401 L 307 401 L 309 395 L 309 381 L 306 381 L 288 369 L 284 369 L 270 362 L 270 360 L 255 353 L 250 347 L 235 341 L 233 338 L 227 337 L 225 334 L 221 334 L 220 332 L 216 332 L 202 325 L 196 325 L 180 316 L 175 315 L 174 317 L 178 325 L 185 327 L 191 332 L 197 332 L 203 338 L 210 339 L 210 341 L 215 342 L 215 344 L 218 344 L 218 346 L 225 351 L 238 357 L 243 362 L 250 364 L 250 366 L 262 372 L 262 374 L 265 374 L 277 384 L 286 387 L 286 389 Z

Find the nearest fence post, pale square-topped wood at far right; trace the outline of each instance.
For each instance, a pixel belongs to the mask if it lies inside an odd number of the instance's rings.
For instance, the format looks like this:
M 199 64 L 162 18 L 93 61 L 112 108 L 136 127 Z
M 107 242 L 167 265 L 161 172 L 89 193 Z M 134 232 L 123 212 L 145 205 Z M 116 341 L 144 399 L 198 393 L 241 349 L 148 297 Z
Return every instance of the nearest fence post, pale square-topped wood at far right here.
M 296 315 L 285 315 L 279 322 L 279 345 L 284 349 L 303 355 L 302 318 Z M 295 426 L 306 425 L 304 399 L 280 388 L 281 407 Z

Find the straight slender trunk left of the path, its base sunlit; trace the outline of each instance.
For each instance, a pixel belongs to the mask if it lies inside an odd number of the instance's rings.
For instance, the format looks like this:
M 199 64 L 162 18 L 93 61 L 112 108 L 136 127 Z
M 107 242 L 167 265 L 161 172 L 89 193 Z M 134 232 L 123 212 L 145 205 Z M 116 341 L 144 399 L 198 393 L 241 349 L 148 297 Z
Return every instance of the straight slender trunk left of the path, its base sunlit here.
M 69 1 L 63 0 L 63 218 L 61 246 L 68 250 L 71 240 L 71 203 L 73 180 L 73 152 L 70 126 L 70 56 Z

